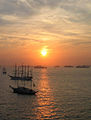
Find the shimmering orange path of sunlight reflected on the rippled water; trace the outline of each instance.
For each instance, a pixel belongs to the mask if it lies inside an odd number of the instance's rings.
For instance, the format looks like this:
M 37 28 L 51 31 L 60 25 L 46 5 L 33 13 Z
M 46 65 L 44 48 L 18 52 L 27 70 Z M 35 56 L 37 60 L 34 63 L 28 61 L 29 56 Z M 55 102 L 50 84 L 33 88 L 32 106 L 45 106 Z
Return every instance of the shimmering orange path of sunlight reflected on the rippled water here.
M 50 80 L 48 79 L 47 70 L 41 70 L 41 77 L 38 85 L 38 89 L 40 90 L 37 102 L 37 112 L 36 116 L 38 120 L 42 120 L 44 118 L 53 118 L 56 116 L 56 109 L 52 89 L 50 88 Z

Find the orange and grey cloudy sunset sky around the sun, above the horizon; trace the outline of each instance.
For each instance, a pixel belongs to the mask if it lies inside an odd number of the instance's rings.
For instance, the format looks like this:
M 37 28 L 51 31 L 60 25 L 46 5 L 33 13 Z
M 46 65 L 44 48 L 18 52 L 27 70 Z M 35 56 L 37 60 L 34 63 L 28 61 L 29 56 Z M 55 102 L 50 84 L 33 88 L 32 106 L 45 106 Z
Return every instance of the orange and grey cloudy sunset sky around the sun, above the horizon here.
M 0 0 L 0 64 L 15 63 L 91 64 L 91 0 Z

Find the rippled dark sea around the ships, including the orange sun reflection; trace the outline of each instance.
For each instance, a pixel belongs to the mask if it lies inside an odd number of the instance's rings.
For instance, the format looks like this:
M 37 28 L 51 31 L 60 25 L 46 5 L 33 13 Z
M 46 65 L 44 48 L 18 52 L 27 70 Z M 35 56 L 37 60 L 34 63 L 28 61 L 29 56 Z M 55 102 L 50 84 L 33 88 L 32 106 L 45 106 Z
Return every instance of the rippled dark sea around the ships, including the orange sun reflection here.
M 33 76 L 36 96 L 17 95 L 0 68 L 0 120 L 91 120 L 91 68 L 35 69 Z

